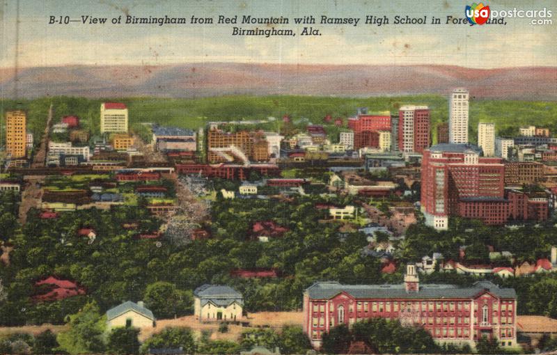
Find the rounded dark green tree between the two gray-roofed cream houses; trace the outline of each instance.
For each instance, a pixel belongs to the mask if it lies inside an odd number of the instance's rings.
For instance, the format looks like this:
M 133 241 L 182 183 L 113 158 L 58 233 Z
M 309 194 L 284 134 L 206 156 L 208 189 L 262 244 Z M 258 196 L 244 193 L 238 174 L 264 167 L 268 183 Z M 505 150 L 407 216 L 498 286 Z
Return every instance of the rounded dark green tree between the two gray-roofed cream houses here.
M 169 318 L 190 313 L 194 296 L 191 291 L 178 290 L 173 283 L 157 281 L 147 285 L 143 301 L 155 317 Z

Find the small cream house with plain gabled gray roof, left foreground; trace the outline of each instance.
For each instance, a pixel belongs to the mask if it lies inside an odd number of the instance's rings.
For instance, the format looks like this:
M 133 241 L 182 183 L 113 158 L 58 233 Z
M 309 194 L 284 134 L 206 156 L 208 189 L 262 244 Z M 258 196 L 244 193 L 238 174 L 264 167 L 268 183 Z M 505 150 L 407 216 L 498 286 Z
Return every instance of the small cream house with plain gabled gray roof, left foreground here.
M 155 316 L 145 308 L 143 301 L 124 303 L 107 310 L 107 326 L 134 326 L 135 328 L 152 328 L 155 326 Z

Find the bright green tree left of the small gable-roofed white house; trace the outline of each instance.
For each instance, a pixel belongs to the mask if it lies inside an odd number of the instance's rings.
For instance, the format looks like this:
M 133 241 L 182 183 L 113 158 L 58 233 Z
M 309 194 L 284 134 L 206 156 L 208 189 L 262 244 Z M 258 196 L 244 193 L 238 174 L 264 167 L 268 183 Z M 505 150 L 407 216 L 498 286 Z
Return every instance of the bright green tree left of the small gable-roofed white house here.
M 61 349 L 70 354 L 86 354 L 104 350 L 106 317 L 100 315 L 95 301 L 86 303 L 78 313 L 69 316 L 70 330 L 58 334 Z

